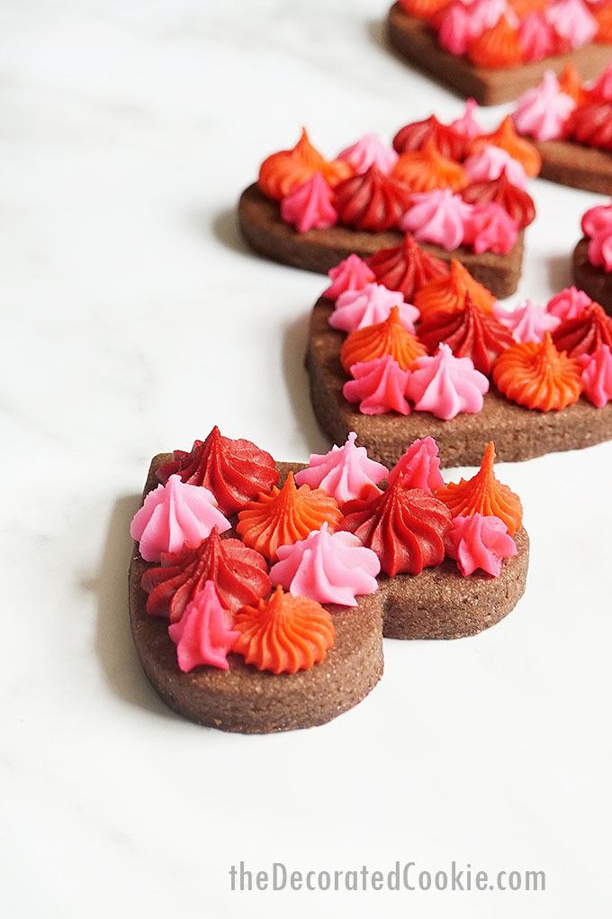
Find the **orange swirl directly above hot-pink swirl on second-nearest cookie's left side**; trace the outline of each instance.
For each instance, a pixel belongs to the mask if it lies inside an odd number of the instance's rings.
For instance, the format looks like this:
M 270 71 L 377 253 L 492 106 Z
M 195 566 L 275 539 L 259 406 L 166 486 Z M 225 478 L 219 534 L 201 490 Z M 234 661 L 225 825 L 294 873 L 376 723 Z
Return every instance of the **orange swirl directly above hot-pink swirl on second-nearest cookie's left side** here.
M 349 373 L 353 364 L 390 355 L 400 369 L 407 370 L 424 354 L 425 346 L 402 325 L 399 308 L 394 306 L 384 323 L 365 325 L 347 336 L 340 350 L 340 363 Z

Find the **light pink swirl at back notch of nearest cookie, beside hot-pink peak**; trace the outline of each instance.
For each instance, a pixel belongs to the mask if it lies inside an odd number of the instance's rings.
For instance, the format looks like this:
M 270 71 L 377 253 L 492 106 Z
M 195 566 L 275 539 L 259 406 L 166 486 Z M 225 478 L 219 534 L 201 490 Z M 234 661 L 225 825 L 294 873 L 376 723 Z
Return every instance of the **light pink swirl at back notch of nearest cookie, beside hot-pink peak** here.
M 295 474 L 295 482 L 322 488 L 339 505 L 378 494 L 376 486 L 383 481 L 388 469 L 370 459 L 365 447 L 356 447 L 356 440 L 357 435 L 351 431 L 344 446 L 334 446 L 325 454 L 311 453 L 308 468 Z

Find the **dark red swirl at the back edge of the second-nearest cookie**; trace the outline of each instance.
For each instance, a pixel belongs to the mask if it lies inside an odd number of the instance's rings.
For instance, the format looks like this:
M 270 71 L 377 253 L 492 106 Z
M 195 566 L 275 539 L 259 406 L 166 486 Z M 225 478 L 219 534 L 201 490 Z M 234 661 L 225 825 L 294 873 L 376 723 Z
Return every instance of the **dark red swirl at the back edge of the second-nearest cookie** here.
M 411 233 L 406 233 L 402 244 L 379 249 L 367 261 L 377 282 L 389 290 L 401 290 L 408 303 L 431 278 L 449 273 L 446 262 L 424 252 Z

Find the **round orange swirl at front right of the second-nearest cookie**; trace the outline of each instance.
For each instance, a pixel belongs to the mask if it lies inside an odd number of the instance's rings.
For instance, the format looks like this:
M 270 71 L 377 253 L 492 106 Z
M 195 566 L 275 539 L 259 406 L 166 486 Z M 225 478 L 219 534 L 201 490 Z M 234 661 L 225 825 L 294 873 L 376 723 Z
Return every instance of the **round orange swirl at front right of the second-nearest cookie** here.
M 578 402 L 583 389 L 578 360 L 557 351 L 547 332 L 541 342 L 513 345 L 495 361 L 493 380 L 508 399 L 540 412 Z

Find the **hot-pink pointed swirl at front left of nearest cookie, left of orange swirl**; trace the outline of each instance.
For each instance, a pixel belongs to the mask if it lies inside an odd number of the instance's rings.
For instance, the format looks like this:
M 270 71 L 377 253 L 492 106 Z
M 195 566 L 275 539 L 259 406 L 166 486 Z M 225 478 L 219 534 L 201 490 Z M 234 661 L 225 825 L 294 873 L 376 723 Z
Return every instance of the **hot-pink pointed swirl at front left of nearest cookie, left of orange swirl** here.
M 229 628 L 227 617 L 214 582 L 206 581 L 204 590 L 198 591 L 182 618 L 168 626 L 176 645 L 179 667 L 184 673 L 200 664 L 228 670 L 228 653 L 240 633 Z

